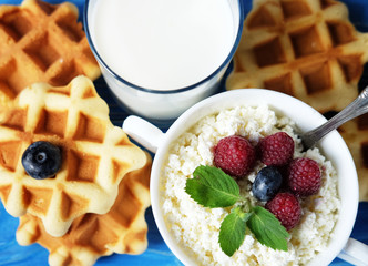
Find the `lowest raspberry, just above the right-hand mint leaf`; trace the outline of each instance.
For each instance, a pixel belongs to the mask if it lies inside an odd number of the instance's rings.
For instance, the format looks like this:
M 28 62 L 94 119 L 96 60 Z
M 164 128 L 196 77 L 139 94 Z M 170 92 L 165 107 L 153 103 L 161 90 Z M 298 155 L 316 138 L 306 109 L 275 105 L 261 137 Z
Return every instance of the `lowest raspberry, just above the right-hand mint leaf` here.
M 272 212 L 287 229 L 294 228 L 300 221 L 301 207 L 298 198 L 288 192 L 282 192 L 267 202 L 266 208 Z

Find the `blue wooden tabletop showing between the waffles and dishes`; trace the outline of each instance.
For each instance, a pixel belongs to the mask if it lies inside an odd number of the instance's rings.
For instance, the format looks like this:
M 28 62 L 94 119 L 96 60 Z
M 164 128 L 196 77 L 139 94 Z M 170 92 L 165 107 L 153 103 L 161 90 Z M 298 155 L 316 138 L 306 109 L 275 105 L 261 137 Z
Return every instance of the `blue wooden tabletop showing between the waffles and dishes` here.
M 50 3 L 59 3 L 62 0 L 48 0 Z M 84 0 L 72 0 L 80 13 L 83 12 Z M 367 0 L 344 0 L 348 6 L 350 19 L 358 30 L 368 32 L 368 1 Z M 0 0 L 0 4 L 19 4 L 21 0 Z M 251 0 L 244 0 L 245 11 L 252 7 Z M 359 83 L 360 88 L 368 85 L 368 68 L 365 68 L 364 76 Z M 102 78 L 95 81 L 99 94 L 110 105 L 110 116 L 115 125 L 121 125 L 127 114 L 114 102 L 106 84 Z M 180 260 L 171 253 L 161 237 L 155 225 L 152 209 L 146 212 L 146 221 L 149 223 L 149 248 L 142 255 L 112 255 L 102 257 L 96 265 L 182 265 Z M 18 227 L 18 218 L 10 216 L 0 203 L 0 266 L 1 265 L 47 265 L 49 253 L 38 244 L 31 246 L 19 246 L 16 241 L 16 229 Z M 368 244 L 368 202 L 359 204 L 358 217 L 352 231 L 351 237 Z M 336 258 L 331 265 L 346 266 L 349 265 L 339 258 Z

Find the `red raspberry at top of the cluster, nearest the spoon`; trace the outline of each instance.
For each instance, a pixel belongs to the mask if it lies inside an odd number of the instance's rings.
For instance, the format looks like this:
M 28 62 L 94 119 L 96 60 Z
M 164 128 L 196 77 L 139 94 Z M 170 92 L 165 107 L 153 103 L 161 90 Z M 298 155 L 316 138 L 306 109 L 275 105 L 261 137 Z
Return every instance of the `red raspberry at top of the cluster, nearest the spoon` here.
M 292 161 L 294 140 L 285 132 L 277 132 L 258 143 L 260 161 L 267 166 L 282 166 Z

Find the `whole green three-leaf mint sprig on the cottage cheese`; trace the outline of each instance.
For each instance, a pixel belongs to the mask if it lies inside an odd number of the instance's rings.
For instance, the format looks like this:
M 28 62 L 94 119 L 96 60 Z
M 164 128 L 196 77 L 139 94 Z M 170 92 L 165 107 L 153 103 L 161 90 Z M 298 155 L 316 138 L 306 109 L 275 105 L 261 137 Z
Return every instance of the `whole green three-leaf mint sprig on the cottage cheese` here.
M 198 204 L 211 208 L 229 207 L 237 202 L 247 204 L 233 208 L 221 224 L 218 243 L 227 256 L 233 256 L 241 247 L 247 227 L 263 245 L 287 250 L 289 234 L 285 227 L 264 207 L 249 207 L 248 201 L 239 196 L 239 186 L 229 175 L 221 168 L 201 165 L 193 176 L 186 181 L 185 191 Z

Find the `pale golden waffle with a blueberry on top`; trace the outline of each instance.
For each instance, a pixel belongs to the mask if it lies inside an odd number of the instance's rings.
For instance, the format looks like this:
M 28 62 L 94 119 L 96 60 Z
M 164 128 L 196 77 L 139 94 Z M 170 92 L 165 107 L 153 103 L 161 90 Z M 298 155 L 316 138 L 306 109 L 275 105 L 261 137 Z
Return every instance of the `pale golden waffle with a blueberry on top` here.
M 35 83 L 24 89 L 0 121 L 0 197 L 13 216 L 42 219 L 52 236 L 67 233 L 85 213 L 109 212 L 124 175 L 145 164 L 144 152 L 109 119 L 108 104 L 85 76 L 67 86 Z M 33 142 L 62 151 L 52 178 L 30 177 L 21 163 Z

